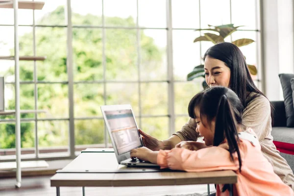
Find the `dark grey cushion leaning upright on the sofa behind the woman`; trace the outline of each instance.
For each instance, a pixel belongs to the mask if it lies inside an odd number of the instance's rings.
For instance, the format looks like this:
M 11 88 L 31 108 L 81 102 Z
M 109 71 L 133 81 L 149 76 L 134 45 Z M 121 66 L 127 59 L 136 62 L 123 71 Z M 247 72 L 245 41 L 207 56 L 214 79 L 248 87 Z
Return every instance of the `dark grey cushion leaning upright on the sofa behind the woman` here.
M 280 82 L 283 89 L 285 111 L 287 119 L 287 127 L 294 127 L 294 106 L 291 88 L 291 78 L 294 78 L 294 74 L 280 73 Z

